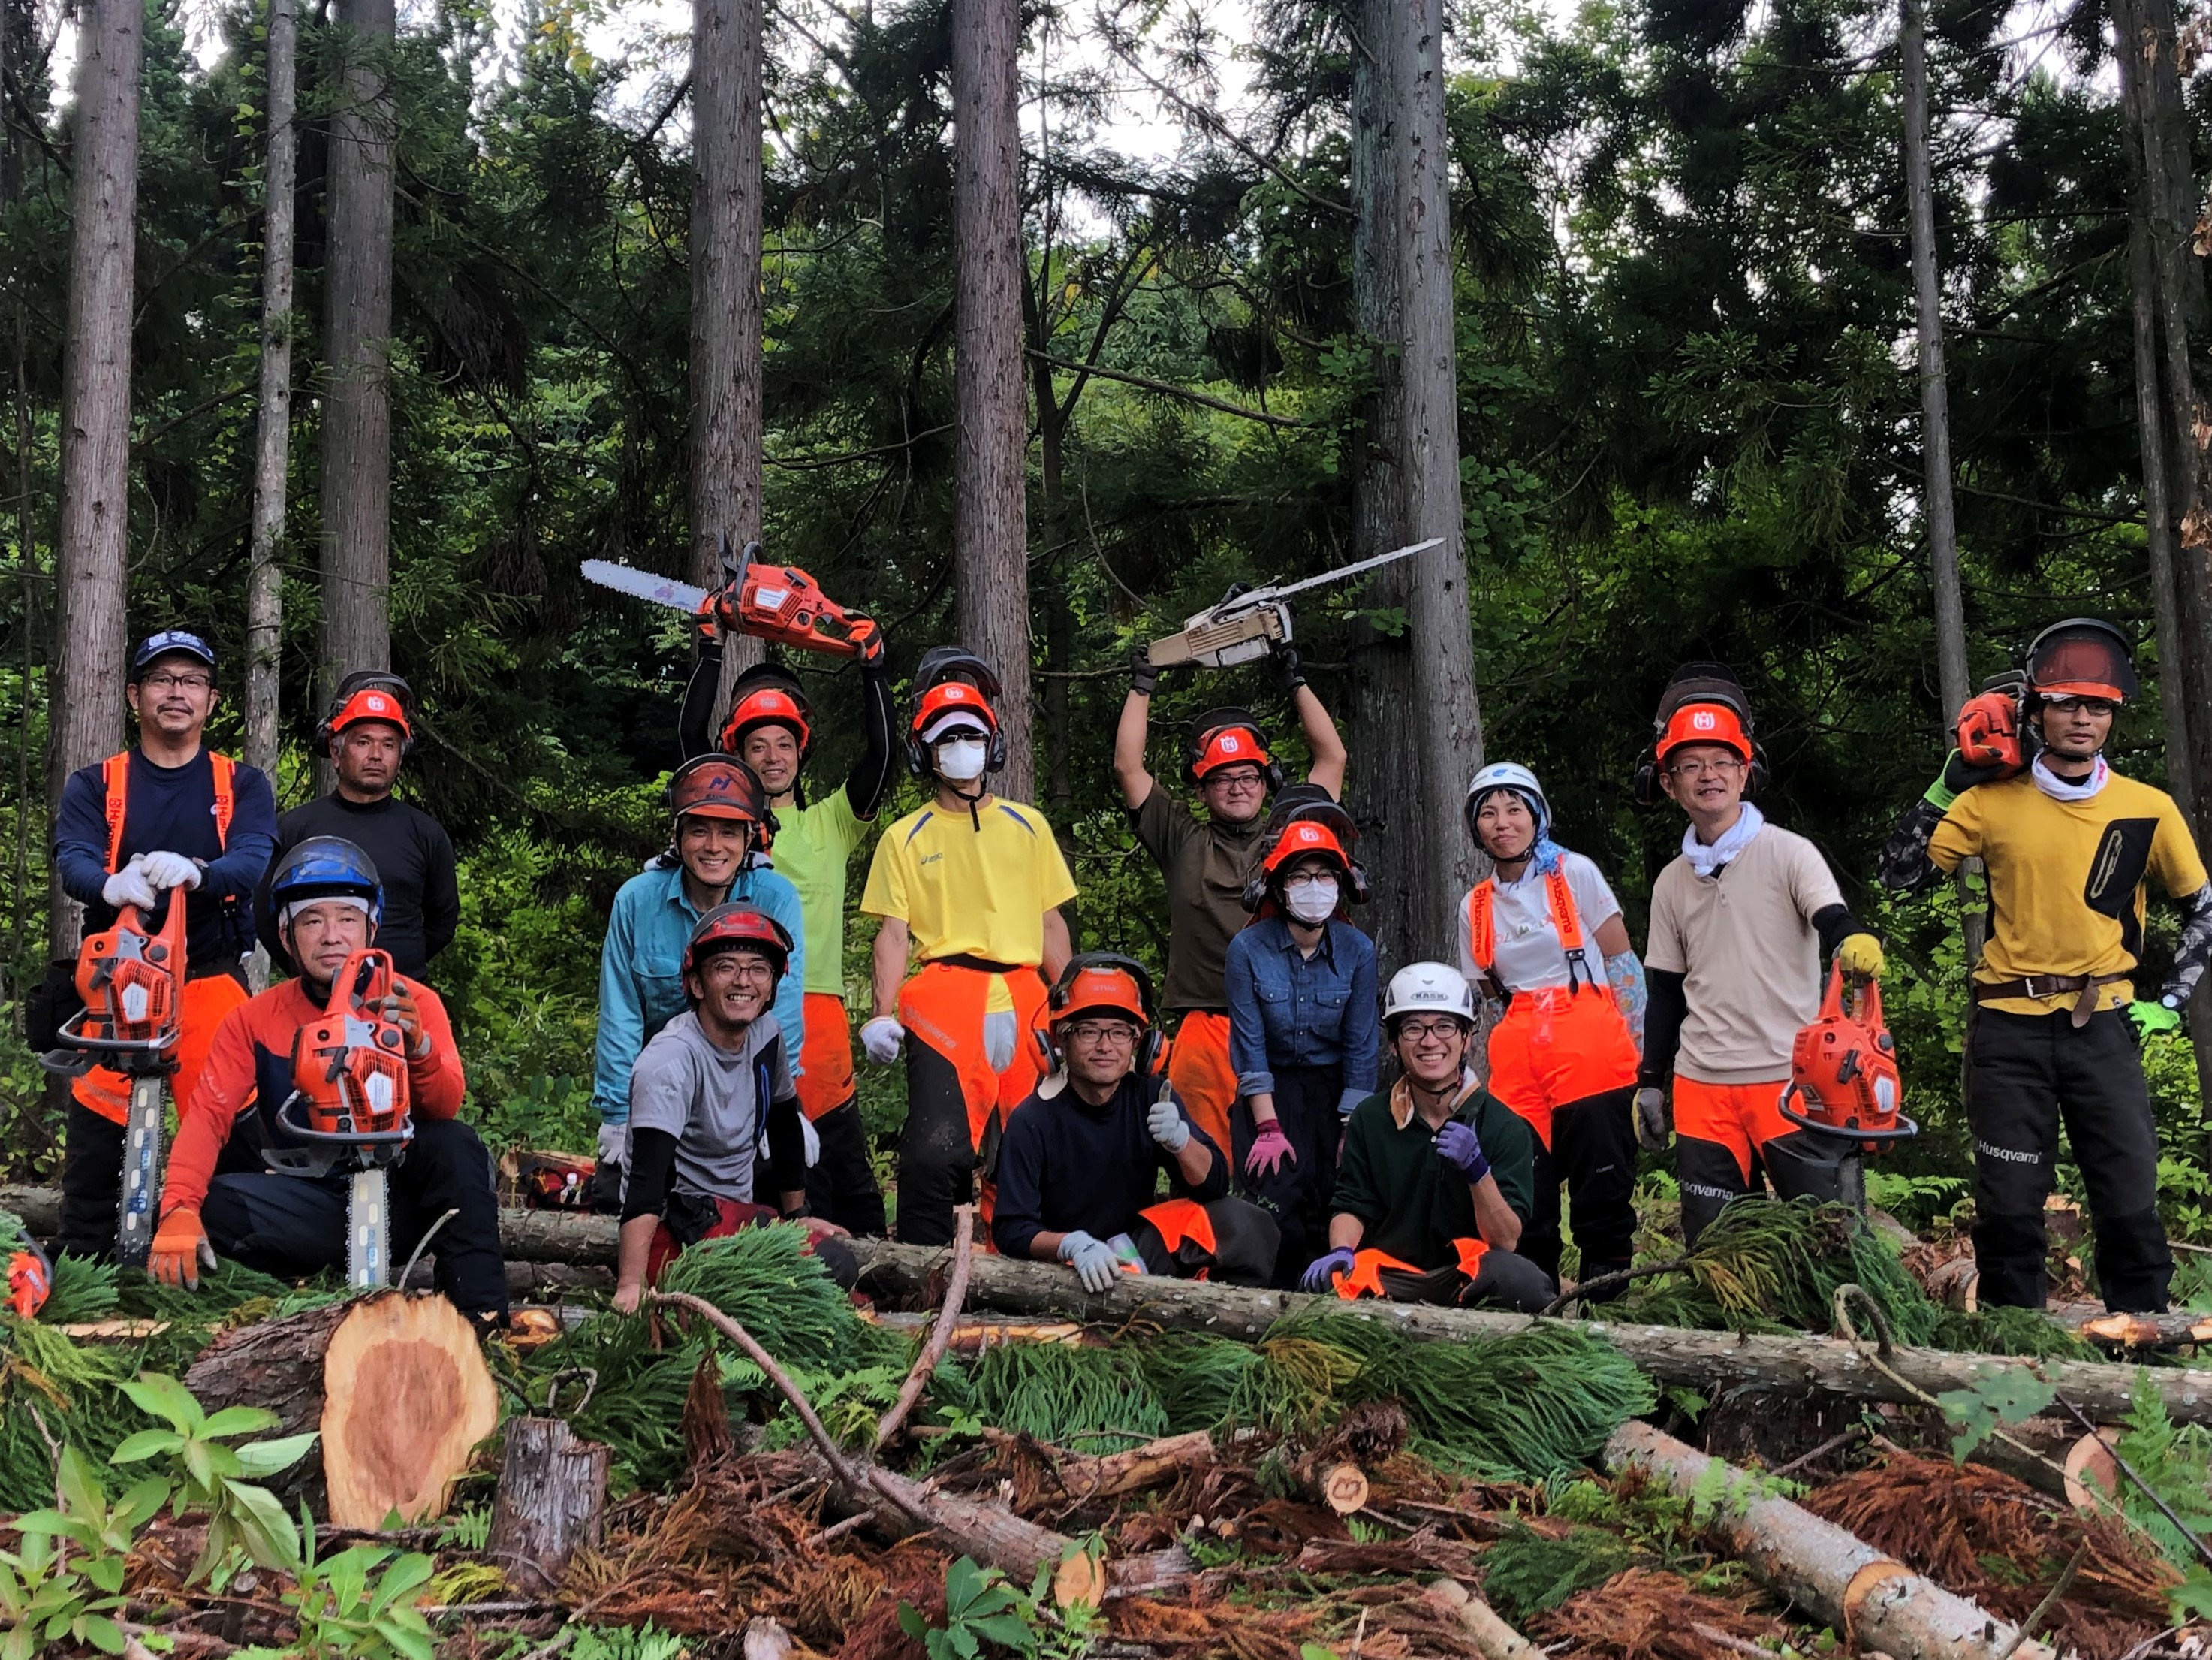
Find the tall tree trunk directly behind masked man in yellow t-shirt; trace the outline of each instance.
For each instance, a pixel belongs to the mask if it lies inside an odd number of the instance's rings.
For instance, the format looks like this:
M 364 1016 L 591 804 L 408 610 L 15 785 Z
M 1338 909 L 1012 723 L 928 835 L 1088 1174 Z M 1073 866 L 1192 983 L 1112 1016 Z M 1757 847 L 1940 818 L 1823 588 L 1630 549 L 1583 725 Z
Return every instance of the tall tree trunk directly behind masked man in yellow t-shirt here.
M 1020 44 L 1015 0 L 953 0 L 953 633 L 1006 686 L 1006 768 L 991 788 L 1029 801 Z

